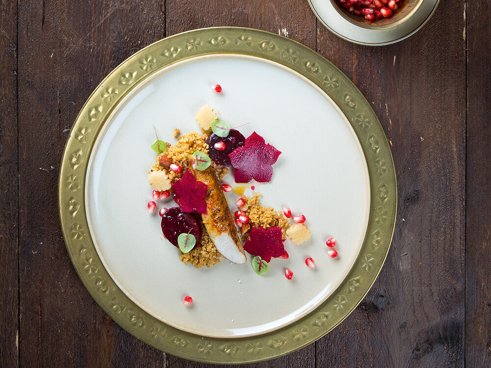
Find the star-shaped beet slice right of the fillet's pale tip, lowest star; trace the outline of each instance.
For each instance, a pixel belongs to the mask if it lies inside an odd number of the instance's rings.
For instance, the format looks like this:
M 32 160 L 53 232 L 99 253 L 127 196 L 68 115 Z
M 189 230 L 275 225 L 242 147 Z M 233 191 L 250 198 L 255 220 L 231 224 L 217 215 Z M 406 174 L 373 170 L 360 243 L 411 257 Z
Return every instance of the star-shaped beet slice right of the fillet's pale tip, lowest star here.
M 286 253 L 283 246 L 284 241 L 285 239 L 281 237 L 281 228 L 252 228 L 244 244 L 244 250 L 270 262 L 271 258 L 281 257 Z

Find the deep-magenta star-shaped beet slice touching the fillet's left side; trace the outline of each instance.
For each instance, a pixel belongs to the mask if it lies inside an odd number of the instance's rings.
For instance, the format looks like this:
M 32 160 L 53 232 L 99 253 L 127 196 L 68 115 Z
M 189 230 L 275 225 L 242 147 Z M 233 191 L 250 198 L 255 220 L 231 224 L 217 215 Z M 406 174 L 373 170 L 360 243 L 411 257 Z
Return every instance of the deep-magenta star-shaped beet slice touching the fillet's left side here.
M 181 179 L 172 184 L 172 190 L 179 198 L 179 207 L 184 212 L 206 213 L 206 193 L 208 185 L 196 181 L 191 171 L 186 170 Z

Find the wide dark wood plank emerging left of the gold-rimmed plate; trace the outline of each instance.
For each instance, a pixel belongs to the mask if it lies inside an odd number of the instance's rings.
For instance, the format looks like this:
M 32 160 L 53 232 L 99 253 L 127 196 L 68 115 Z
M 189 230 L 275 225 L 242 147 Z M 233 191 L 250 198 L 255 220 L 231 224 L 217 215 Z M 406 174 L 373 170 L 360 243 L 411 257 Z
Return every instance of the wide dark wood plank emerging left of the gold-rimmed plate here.
M 164 0 L 19 1 L 25 367 L 165 366 L 164 353 L 119 328 L 84 289 L 65 249 L 57 209 L 59 163 L 78 111 L 117 64 L 164 37 L 164 28 Z

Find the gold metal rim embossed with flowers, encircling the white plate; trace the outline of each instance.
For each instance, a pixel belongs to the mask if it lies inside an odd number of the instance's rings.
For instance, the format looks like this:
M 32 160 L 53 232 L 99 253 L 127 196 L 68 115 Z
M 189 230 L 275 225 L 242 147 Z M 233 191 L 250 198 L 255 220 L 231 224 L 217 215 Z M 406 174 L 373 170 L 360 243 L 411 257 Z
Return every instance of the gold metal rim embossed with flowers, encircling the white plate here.
M 119 101 L 157 70 L 201 55 L 236 53 L 265 58 L 313 81 L 353 126 L 366 157 L 370 217 L 359 256 L 338 289 L 314 312 L 282 329 L 242 339 L 202 339 L 141 310 L 113 282 L 88 231 L 83 184 L 99 131 Z M 204 28 L 158 41 L 115 68 L 83 105 L 70 131 L 59 176 L 59 215 L 72 263 L 101 308 L 136 338 L 169 354 L 217 364 L 253 363 L 291 353 L 321 338 L 363 299 L 379 274 L 394 231 L 397 188 L 382 126 L 353 82 L 311 49 L 273 33 L 240 27 Z

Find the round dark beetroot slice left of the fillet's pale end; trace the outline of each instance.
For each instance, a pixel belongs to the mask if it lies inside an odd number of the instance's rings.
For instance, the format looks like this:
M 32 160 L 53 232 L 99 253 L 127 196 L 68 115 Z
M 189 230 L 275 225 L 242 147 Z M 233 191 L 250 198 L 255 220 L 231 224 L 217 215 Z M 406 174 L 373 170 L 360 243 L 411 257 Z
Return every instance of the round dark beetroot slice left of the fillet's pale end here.
M 186 213 L 179 207 L 172 207 L 166 210 L 164 216 L 162 216 L 161 226 L 164 237 L 176 247 L 179 247 L 177 237 L 183 233 L 194 235 L 196 237 L 195 246 L 201 245 L 203 231 L 198 217 L 194 213 Z

